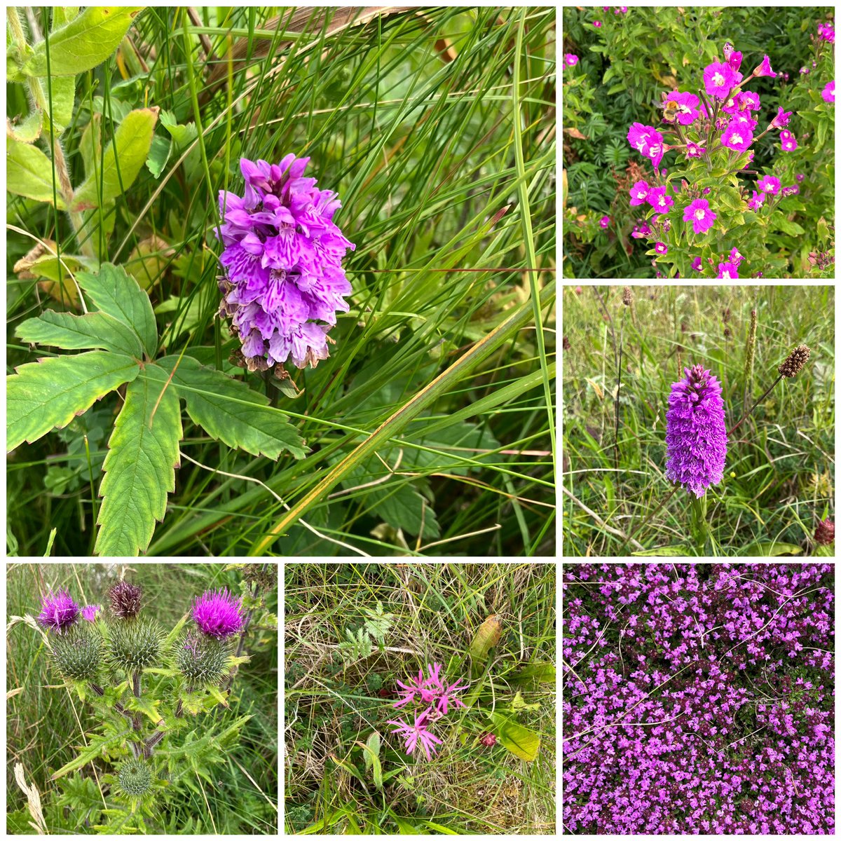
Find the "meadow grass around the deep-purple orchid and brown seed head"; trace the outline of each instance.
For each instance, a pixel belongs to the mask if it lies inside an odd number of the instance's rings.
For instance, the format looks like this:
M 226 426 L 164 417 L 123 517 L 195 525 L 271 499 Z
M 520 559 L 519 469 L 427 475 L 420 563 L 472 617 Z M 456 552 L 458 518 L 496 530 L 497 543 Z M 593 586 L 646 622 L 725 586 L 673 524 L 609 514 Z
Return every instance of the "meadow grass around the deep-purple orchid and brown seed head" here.
M 632 293 L 627 308 L 621 286 L 563 288 L 563 555 L 691 555 L 687 492 L 659 508 L 673 488 L 665 479 L 671 383 L 684 367 L 709 368 L 722 383 L 729 430 L 799 344 L 812 349 L 806 367 L 728 436 L 724 481 L 706 492 L 707 520 L 722 557 L 812 554 L 817 520 L 834 519 L 834 289 L 634 286 Z M 751 309 L 758 326 L 748 382 Z

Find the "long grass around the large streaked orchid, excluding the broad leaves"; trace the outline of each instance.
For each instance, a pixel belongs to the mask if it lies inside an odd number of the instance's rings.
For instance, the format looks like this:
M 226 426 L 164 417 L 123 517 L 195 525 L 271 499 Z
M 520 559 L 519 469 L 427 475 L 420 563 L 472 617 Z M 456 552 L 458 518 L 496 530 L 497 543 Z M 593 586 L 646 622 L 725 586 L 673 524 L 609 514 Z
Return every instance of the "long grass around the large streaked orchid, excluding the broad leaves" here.
M 49 9 L 21 19 L 28 34 L 49 32 Z M 539 7 L 156 6 L 78 77 L 61 138 L 73 182 L 90 156 L 101 168 L 132 108 L 161 109 L 151 155 L 108 212 L 87 214 L 80 241 L 49 204 L 9 198 L 8 371 L 50 355 L 15 338 L 17 325 L 79 311 L 70 283 L 16 274 L 16 262 L 33 240 L 87 249 L 148 291 L 159 352 L 188 350 L 268 392 L 311 450 L 253 458 L 185 415 L 149 555 L 248 553 L 301 500 L 312 501 L 268 553 L 554 555 L 555 24 L 555 9 Z M 24 85 L 9 85 L 9 118 L 28 109 Z M 216 317 L 214 227 L 220 189 L 242 192 L 240 157 L 290 151 L 338 193 L 336 222 L 357 249 L 331 357 L 292 369 L 298 394 L 278 396 L 227 361 L 239 344 Z M 10 554 L 93 553 L 120 400 L 13 452 Z

